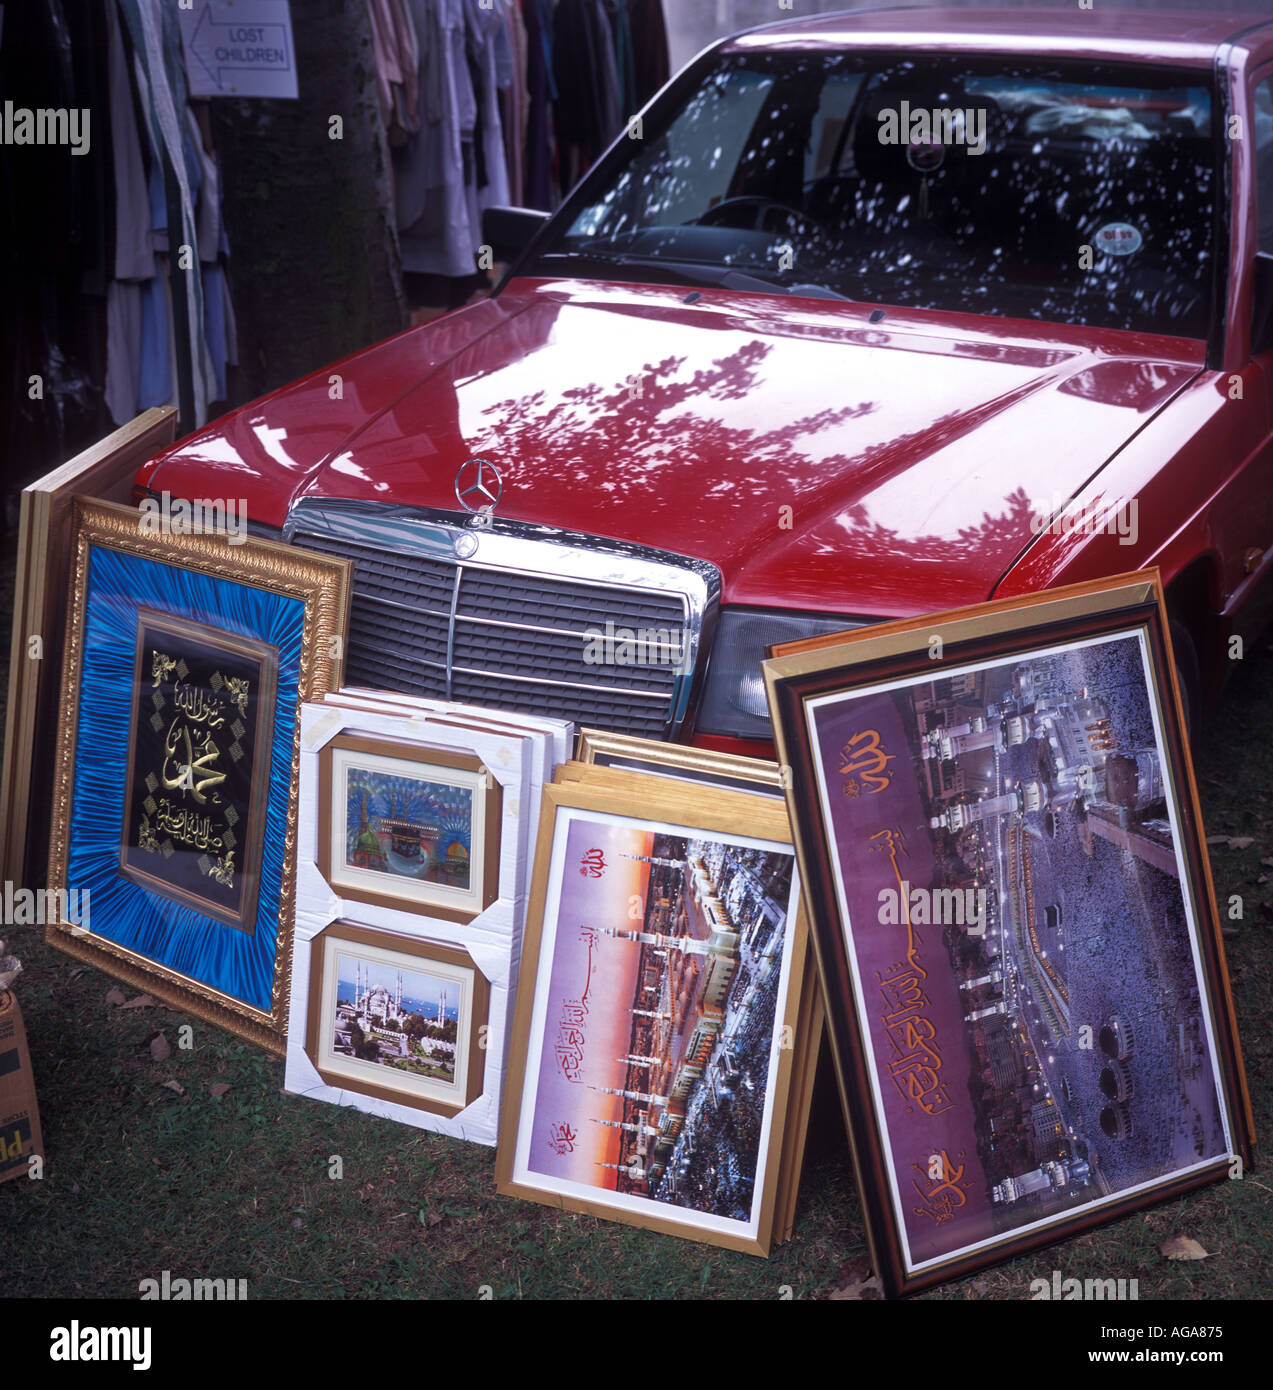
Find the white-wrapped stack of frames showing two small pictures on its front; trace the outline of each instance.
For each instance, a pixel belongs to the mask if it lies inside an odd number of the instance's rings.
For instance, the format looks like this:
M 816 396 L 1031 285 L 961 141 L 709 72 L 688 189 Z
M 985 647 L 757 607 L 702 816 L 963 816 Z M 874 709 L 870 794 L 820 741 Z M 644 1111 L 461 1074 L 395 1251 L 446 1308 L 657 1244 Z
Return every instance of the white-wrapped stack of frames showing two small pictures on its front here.
M 534 819 L 568 724 L 340 691 L 302 720 L 286 1088 L 493 1145 Z

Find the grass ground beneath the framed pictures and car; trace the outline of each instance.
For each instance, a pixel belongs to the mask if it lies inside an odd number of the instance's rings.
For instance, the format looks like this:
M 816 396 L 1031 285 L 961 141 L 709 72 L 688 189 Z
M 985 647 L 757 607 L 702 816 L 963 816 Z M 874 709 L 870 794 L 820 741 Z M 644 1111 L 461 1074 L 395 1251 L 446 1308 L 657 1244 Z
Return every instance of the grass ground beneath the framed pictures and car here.
M 11 612 L 11 559 L 0 612 Z M 6 602 L 8 600 L 8 602 Z M 7 655 L 7 637 L 3 653 Z M 3 660 L 3 656 L 0 656 Z M 1216 891 L 1244 899 L 1226 945 L 1256 1129 L 1273 1126 L 1273 648 L 1252 652 L 1198 763 Z M 0 687 L 3 689 L 3 687 Z M 3 695 L 0 695 L 3 699 Z M 491 1150 L 282 1091 L 284 1068 L 161 1006 L 120 1009 L 114 981 L 3 935 L 24 960 L 46 1176 L 0 1184 L 0 1297 L 138 1295 L 143 1279 L 246 1279 L 261 1298 L 809 1298 L 866 1258 L 823 1058 L 794 1238 L 769 1259 L 496 1195 Z M 132 992 L 132 991 L 125 991 Z M 190 1026 L 182 1048 L 182 1024 Z M 171 1055 L 156 1062 L 163 1031 Z M 181 1094 L 165 1086 L 176 1081 Z M 213 1087 L 228 1087 L 214 1095 Z M 335 1176 L 338 1175 L 339 1176 Z M 1210 1251 L 1169 1262 L 1170 1236 Z M 1128 1277 L 1140 1297 L 1273 1295 L 1273 1175 L 1259 1169 L 927 1294 L 1017 1300 L 1051 1277 Z

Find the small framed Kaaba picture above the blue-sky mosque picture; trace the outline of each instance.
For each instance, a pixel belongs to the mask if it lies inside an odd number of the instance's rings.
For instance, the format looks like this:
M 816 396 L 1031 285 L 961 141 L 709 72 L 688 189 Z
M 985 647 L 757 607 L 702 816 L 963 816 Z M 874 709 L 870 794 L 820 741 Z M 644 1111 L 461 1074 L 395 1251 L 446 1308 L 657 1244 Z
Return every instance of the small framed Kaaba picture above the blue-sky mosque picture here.
M 339 734 L 318 755 L 318 867 L 342 898 L 471 922 L 499 895 L 500 805 L 477 753 Z

